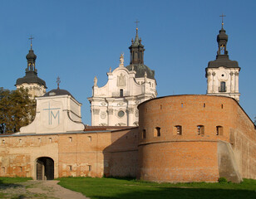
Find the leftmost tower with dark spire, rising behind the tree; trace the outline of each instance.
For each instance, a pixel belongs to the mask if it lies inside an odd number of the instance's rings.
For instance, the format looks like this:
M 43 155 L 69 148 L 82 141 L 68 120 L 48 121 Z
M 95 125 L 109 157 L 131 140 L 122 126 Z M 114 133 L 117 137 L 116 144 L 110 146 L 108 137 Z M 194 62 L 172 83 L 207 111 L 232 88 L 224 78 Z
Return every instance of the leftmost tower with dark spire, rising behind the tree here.
M 37 56 L 34 54 L 32 50 L 32 37 L 30 38 L 30 50 L 26 56 L 27 58 L 27 68 L 26 68 L 26 75 L 22 78 L 18 78 L 16 81 L 16 88 L 19 89 L 23 87 L 24 89 L 28 89 L 28 93 L 32 95 L 32 98 L 36 96 L 42 96 L 46 93 L 47 85 L 46 82 L 40 79 L 37 76 L 37 69 L 36 69 L 36 60 Z

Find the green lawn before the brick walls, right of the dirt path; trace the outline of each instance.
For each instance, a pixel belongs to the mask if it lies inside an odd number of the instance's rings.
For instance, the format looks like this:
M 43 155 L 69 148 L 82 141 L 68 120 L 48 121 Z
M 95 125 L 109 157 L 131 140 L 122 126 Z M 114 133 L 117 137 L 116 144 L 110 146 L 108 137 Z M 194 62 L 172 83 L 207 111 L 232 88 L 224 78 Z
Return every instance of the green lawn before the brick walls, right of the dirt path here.
M 256 198 L 256 180 L 235 183 L 156 183 L 134 179 L 62 177 L 59 184 L 91 199 L 103 198 Z

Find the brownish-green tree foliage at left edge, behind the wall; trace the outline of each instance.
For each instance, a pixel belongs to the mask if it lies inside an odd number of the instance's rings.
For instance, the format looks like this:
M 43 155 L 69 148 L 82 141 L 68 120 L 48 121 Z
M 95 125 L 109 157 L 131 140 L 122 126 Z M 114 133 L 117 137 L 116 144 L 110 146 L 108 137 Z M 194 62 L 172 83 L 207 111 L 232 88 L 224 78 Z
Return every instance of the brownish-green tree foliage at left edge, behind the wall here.
M 35 118 L 36 100 L 27 90 L 0 88 L 0 133 L 16 133 Z

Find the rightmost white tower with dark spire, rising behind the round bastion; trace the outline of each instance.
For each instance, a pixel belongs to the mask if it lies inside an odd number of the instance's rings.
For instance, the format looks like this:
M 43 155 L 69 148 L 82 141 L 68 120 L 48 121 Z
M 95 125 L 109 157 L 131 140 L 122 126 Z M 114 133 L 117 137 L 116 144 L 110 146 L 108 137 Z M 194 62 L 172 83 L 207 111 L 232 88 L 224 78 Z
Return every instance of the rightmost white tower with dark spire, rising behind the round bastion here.
M 224 17 L 224 15 L 220 16 Z M 239 63 L 229 60 L 227 51 L 228 35 L 224 30 L 224 22 L 217 36 L 218 51 L 216 60 L 209 61 L 205 69 L 207 78 L 207 95 L 229 96 L 239 102 Z

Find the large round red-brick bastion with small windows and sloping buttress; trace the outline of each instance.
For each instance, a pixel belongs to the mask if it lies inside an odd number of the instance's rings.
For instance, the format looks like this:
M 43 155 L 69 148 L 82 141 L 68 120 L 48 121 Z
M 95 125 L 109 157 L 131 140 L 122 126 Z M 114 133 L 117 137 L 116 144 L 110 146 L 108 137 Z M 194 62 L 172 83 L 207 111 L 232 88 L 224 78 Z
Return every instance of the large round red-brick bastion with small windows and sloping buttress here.
M 236 100 L 174 95 L 138 108 L 138 178 L 216 182 L 227 177 L 239 182 L 256 177 L 255 126 Z

